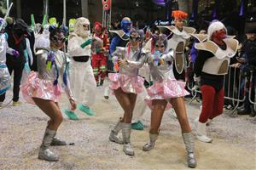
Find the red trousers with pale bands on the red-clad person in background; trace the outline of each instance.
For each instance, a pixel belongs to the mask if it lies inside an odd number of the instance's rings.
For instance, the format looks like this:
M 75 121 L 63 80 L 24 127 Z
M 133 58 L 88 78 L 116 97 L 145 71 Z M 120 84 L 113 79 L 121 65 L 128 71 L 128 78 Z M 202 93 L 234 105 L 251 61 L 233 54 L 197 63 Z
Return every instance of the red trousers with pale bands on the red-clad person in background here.
M 92 69 L 96 82 L 104 80 L 107 73 L 107 57 L 104 54 L 92 54 Z

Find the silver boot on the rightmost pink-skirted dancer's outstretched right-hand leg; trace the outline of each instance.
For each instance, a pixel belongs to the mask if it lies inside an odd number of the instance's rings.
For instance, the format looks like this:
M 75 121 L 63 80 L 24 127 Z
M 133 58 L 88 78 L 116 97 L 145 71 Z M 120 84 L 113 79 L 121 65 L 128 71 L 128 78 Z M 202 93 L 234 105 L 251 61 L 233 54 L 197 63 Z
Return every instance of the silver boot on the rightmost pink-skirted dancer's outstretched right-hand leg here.
M 196 167 L 195 160 L 195 144 L 194 144 L 194 136 L 192 133 L 183 133 L 183 141 L 186 145 L 186 150 L 188 152 L 187 161 L 189 167 Z

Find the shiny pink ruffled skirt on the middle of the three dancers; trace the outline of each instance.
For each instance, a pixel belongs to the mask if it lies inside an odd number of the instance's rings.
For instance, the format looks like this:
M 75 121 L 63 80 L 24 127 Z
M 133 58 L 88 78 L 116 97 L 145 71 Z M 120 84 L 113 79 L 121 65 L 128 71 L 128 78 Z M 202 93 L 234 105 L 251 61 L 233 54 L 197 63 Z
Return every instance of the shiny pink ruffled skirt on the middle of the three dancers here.
M 140 94 L 143 92 L 143 77 L 131 77 L 125 74 L 109 73 L 108 78 L 110 80 L 109 88 L 112 90 L 122 88 L 125 93 L 132 94 Z

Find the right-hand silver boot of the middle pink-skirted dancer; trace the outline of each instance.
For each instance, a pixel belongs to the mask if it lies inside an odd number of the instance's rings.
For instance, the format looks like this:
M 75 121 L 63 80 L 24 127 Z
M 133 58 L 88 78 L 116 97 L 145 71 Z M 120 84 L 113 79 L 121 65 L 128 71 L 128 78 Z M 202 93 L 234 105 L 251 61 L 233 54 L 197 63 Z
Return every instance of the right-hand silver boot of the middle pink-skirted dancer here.
M 124 140 L 124 152 L 128 156 L 134 156 L 134 150 L 131 147 L 130 137 L 131 137 L 131 123 L 123 123 L 122 128 L 123 140 Z

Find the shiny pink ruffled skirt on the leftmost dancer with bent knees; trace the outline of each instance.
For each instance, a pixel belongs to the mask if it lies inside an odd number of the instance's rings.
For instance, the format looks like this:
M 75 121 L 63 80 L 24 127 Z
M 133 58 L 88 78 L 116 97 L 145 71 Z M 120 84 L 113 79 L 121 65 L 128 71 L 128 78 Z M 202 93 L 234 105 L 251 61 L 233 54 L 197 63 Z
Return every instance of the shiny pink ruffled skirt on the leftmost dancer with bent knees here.
M 31 71 L 26 80 L 20 85 L 21 93 L 27 103 L 35 104 L 32 98 L 52 100 L 61 99 L 61 86 L 52 81 L 38 78 L 38 73 Z

